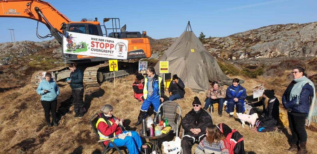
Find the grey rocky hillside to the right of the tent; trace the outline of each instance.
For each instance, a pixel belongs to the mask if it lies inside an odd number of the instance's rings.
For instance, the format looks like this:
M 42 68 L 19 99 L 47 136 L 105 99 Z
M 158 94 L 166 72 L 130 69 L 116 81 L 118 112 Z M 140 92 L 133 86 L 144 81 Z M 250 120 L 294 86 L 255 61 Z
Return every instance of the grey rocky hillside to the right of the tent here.
M 255 59 L 317 56 L 317 22 L 278 24 L 205 39 L 217 58 Z

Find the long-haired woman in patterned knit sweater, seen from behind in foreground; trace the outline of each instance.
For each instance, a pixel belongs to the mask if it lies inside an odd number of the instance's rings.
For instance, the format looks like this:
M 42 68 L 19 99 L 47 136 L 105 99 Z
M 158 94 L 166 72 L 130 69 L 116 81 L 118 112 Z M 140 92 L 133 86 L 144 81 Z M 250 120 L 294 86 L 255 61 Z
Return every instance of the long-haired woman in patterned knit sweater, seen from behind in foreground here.
M 206 128 L 206 137 L 198 144 L 195 154 L 229 154 L 228 143 L 216 125 Z

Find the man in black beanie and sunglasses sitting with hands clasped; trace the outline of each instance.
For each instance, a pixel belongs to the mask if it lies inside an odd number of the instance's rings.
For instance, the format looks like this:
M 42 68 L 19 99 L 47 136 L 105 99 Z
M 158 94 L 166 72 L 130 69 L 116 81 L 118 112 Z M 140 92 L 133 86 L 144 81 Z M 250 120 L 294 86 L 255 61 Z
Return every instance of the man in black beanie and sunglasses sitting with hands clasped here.
M 201 109 L 198 97 L 194 97 L 192 105 L 193 109 L 181 121 L 184 129 L 184 137 L 181 141 L 184 154 L 191 154 L 193 144 L 199 143 L 205 136 L 207 126 L 212 125 L 211 116 Z

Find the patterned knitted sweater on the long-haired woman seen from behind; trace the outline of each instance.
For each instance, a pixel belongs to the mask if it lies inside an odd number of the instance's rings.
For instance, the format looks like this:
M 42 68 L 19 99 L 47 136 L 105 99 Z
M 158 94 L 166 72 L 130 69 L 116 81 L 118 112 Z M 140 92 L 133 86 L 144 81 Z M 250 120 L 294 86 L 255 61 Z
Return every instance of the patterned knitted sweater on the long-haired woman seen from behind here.
M 229 154 L 229 147 L 226 140 L 220 140 L 218 143 L 210 144 L 205 137 L 198 144 L 195 154 Z

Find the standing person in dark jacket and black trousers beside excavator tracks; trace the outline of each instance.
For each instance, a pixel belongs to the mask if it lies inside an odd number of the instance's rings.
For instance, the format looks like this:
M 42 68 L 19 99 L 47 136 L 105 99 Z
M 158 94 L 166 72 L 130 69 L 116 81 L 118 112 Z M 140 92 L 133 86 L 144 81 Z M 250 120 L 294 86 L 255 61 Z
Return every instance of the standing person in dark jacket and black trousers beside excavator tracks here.
M 69 86 L 72 88 L 72 95 L 73 95 L 73 104 L 74 104 L 74 112 L 76 118 L 83 118 L 84 112 L 86 111 L 84 108 L 84 84 L 83 84 L 83 77 L 84 74 L 80 69 L 77 68 L 75 63 L 69 64 L 68 68 L 70 69 L 71 73 L 69 75 L 70 80 L 67 81 Z

